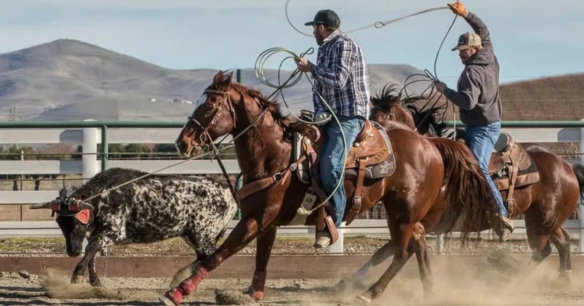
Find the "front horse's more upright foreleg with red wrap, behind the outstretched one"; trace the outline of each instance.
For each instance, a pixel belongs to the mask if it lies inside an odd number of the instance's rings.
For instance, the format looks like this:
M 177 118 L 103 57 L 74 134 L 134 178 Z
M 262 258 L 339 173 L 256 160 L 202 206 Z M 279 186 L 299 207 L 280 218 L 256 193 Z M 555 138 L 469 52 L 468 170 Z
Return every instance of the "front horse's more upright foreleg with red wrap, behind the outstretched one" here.
M 272 254 L 276 231 L 276 227 L 269 227 L 265 233 L 257 238 L 256 268 L 253 272 L 252 284 L 246 291 L 256 301 L 261 300 L 263 297 L 263 289 L 266 285 L 267 262 Z

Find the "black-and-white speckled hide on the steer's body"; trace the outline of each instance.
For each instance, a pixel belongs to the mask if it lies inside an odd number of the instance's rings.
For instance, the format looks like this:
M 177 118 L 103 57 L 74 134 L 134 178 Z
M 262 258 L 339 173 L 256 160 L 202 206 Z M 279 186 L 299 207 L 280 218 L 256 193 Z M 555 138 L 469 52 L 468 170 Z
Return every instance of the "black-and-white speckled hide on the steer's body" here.
M 79 188 L 75 198 L 92 195 L 144 175 L 110 168 Z M 89 203 L 95 207 L 89 241 L 101 247 L 183 237 L 197 253 L 208 255 L 224 233 L 237 205 L 227 188 L 202 177 L 151 175 Z

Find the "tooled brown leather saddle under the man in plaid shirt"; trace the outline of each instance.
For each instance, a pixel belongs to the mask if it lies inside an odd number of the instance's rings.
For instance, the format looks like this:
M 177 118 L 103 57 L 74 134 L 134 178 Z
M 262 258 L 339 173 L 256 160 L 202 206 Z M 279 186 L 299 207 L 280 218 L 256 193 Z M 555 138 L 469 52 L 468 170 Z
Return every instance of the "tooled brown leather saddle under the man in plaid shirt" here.
M 312 192 L 318 194 L 318 198 L 326 199 L 325 193 L 319 187 L 320 177 L 318 154 L 321 150 L 322 142 L 320 140 L 322 129 L 315 125 L 311 125 L 310 129 L 310 135 L 294 133 L 293 159 L 298 160 L 303 156 L 307 157 L 303 163 L 298 164 L 296 173 L 302 182 L 305 184 L 312 184 Z M 395 157 L 390 139 L 387 136 L 385 129 L 377 124 L 377 122 L 366 120 L 363 129 L 361 129 L 359 135 L 357 135 L 357 138 L 350 147 L 349 153 L 345 159 L 346 177 L 357 178 L 354 197 L 352 199 L 353 205 L 350 207 L 345 220 L 347 225 L 355 219 L 361 209 L 364 178 L 383 178 L 392 175 L 394 172 Z M 305 209 L 311 208 L 312 207 L 305 207 Z M 320 231 L 324 229 L 324 226 L 326 225 L 329 227 L 329 230 L 331 230 L 331 234 L 333 234 L 330 226 L 331 224 L 329 220 L 326 220 L 324 207 L 319 211 L 317 220 L 317 230 Z M 335 235 L 333 234 L 332 243 L 334 243 L 334 241 Z

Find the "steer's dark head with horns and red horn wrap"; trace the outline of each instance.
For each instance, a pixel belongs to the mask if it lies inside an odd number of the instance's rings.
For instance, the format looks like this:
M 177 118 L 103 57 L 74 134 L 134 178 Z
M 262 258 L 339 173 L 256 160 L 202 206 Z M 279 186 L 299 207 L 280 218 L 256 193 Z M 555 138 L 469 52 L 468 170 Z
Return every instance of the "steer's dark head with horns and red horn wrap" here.
M 67 198 L 67 192 L 61 189 L 61 195 L 51 202 L 31 205 L 30 209 L 50 209 L 57 214 L 57 224 L 65 237 L 67 255 L 79 256 L 83 251 L 83 240 L 92 221 L 93 206 L 74 197 Z

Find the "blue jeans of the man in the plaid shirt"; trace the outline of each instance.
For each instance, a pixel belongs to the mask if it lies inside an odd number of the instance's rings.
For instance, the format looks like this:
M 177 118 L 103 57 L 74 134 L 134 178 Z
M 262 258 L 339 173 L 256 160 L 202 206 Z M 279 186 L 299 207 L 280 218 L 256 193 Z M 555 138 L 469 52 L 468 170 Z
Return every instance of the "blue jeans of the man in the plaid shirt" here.
M 343 152 L 343 136 L 340 133 L 339 124 L 333 118 L 323 126 L 325 135 L 320 158 L 322 187 L 326 194 L 331 195 L 336 184 L 340 181 L 339 188 L 336 189 L 329 201 L 331 203 L 331 216 L 336 226 L 339 226 L 343 221 L 347 202 L 345 184 L 343 184 L 341 175 L 343 168 L 345 168 L 345 158 L 365 124 L 364 119 L 360 117 L 338 116 L 338 118 L 340 125 L 343 127 L 343 132 L 345 132 L 347 152 Z

